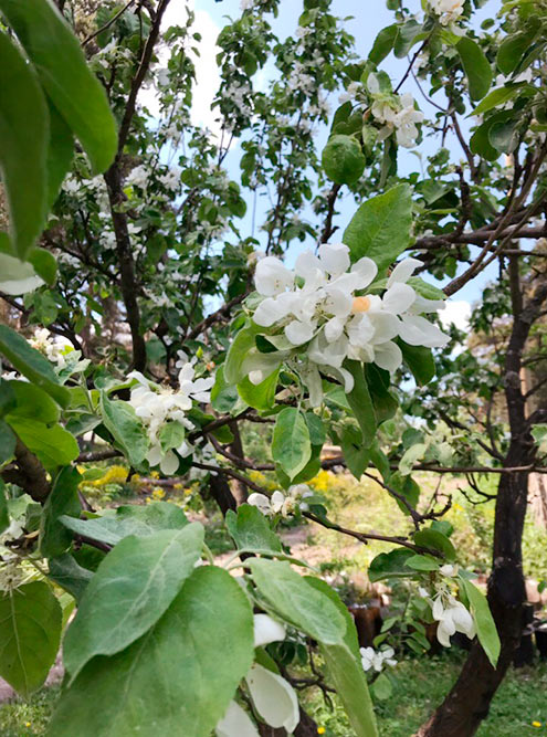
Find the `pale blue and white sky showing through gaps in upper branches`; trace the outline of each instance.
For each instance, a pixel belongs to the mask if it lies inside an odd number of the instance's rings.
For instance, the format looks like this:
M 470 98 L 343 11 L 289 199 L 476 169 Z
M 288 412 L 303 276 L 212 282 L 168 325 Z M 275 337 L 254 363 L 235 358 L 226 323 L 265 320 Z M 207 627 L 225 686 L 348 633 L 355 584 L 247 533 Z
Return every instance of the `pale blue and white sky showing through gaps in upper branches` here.
M 173 0 L 171 3 L 171 13 L 175 17 L 186 7 L 187 0 Z M 286 36 L 288 34 L 294 34 L 294 30 L 297 25 L 298 15 L 302 12 L 302 0 L 281 0 L 280 3 L 280 15 L 277 19 L 271 19 L 274 32 L 280 36 Z M 241 13 L 240 10 L 240 0 L 222 0 L 222 2 L 215 2 L 214 0 L 193 0 L 193 6 L 197 13 L 197 25 L 198 30 L 203 35 L 203 48 L 200 62 L 198 63 L 198 91 L 202 91 L 198 95 L 198 110 L 197 115 L 201 117 L 201 122 L 206 123 L 210 120 L 210 114 L 208 114 L 209 107 L 209 92 L 217 87 L 218 76 L 215 76 L 214 70 L 214 39 L 220 31 L 220 29 L 228 22 L 227 17 L 236 17 Z M 478 24 L 485 18 L 494 18 L 499 9 L 501 0 L 488 0 L 484 7 L 476 13 L 474 24 Z M 420 0 L 408 0 L 407 7 L 419 13 L 421 12 Z M 366 57 L 370 51 L 374 40 L 377 33 L 385 28 L 386 25 L 393 22 L 393 14 L 387 10 L 385 0 L 333 0 L 332 12 L 338 17 L 348 18 L 345 25 L 346 29 L 355 36 L 356 39 L 356 51 L 357 53 Z M 390 54 L 385 62 L 382 62 L 382 69 L 390 74 L 392 80 L 397 82 L 401 78 L 402 74 L 407 69 L 407 60 L 398 60 L 392 54 Z M 269 72 L 263 72 L 263 75 L 267 77 Z M 421 109 L 424 112 L 425 116 L 432 115 L 433 108 L 429 103 L 421 96 L 418 87 L 414 82 L 409 78 L 403 85 L 401 92 L 410 92 L 418 99 Z M 212 93 L 211 93 L 212 94 Z M 337 106 L 337 95 L 330 97 L 330 104 L 333 109 L 336 109 Z M 443 94 L 442 92 L 438 93 L 435 102 L 443 104 Z M 463 122 L 464 130 L 469 127 L 466 122 Z M 317 141 L 319 148 L 322 144 L 326 140 L 328 129 L 325 128 L 318 133 Z M 434 139 L 424 140 L 419 149 L 422 155 L 427 156 L 431 154 L 436 148 L 436 141 Z M 462 151 L 459 147 L 456 140 L 449 139 L 446 141 L 449 149 L 452 152 L 454 161 L 459 161 L 462 158 Z M 239 152 L 235 149 L 231 159 L 228 159 L 228 166 L 231 170 L 231 175 L 236 179 L 239 173 L 238 168 Z M 400 161 L 400 171 L 402 173 L 408 171 L 415 171 L 417 161 L 415 156 L 410 152 L 402 150 L 399 157 Z M 265 207 L 265 202 L 264 206 Z M 348 198 L 345 202 L 340 203 L 339 207 L 339 217 L 337 222 L 340 228 L 344 228 L 345 224 L 349 221 L 355 210 L 355 204 Z M 295 242 L 294 246 L 291 249 L 288 254 L 288 260 L 294 259 L 296 252 L 301 251 L 304 248 L 309 248 L 311 244 L 299 244 Z M 495 264 L 493 264 L 495 267 Z M 469 309 L 469 303 L 474 302 L 484 284 L 495 277 L 496 270 L 487 270 L 478 278 L 473 281 L 471 284 L 466 285 L 454 298 L 454 302 L 457 302 L 459 305 L 454 304 L 452 312 L 455 316 L 460 312 L 462 315 Z M 441 283 L 442 284 L 442 283 Z

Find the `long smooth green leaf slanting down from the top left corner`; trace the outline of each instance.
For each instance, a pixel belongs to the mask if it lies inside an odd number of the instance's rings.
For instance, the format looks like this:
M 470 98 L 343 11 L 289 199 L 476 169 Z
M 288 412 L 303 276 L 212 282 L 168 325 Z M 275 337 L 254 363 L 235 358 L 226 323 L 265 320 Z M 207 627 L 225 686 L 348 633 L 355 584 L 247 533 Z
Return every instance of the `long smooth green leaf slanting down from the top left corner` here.
M 48 0 L 0 0 L 55 108 L 90 157 L 95 173 L 117 150 L 117 131 L 105 90 L 90 71 L 76 36 Z

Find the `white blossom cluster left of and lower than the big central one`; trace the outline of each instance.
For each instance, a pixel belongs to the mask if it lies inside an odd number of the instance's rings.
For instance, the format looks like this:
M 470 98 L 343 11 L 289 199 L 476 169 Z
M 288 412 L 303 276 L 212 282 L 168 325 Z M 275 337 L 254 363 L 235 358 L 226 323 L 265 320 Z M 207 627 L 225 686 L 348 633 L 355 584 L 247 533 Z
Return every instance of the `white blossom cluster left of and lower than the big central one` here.
M 129 403 L 145 425 L 150 443 L 146 460 L 151 466 L 159 465 L 161 473 L 166 475 L 173 474 L 179 466 L 179 459 L 175 451 L 186 457 L 192 453 L 193 448 L 185 439 L 178 448 L 164 450 L 161 430 L 169 422 L 179 422 L 182 428 L 193 430 L 192 422 L 186 415 L 192 408 L 192 400 L 198 402 L 210 400 L 209 390 L 214 379 L 194 379 L 193 377 L 193 366 L 191 364 L 182 366 L 179 372 L 179 388 L 175 391 L 170 387 L 160 387 L 148 381 L 140 371 L 132 371 L 128 375 L 129 379 L 137 380 L 137 385 L 132 389 Z

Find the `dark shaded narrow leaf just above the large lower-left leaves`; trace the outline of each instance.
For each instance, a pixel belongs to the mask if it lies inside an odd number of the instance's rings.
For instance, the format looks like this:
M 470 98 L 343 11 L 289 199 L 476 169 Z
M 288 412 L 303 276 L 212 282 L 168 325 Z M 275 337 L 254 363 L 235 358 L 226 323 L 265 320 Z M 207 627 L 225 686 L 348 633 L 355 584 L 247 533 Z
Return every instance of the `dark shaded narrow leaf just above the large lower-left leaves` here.
M 44 558 L 55 558 L 65 552 L 72 544 L 72 535 L 59 522 L 62 515 L 78 517 L 80 504 L 77 487 L 82 476 L 74 467 L 62 468 L 51 494 L 48 496 L 40 520 L 40 552 Z

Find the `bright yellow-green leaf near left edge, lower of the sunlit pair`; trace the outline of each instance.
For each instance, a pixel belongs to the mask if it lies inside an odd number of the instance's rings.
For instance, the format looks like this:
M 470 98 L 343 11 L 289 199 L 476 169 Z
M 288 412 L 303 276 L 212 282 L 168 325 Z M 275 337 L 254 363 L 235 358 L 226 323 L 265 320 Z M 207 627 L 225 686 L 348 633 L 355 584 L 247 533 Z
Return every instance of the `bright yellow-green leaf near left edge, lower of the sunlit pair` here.
M 69 465 L 80 454 L 76 440 L 60 424 L 48 427 L 44 422 L 13 417 L 9 423 L 48 470 Z

